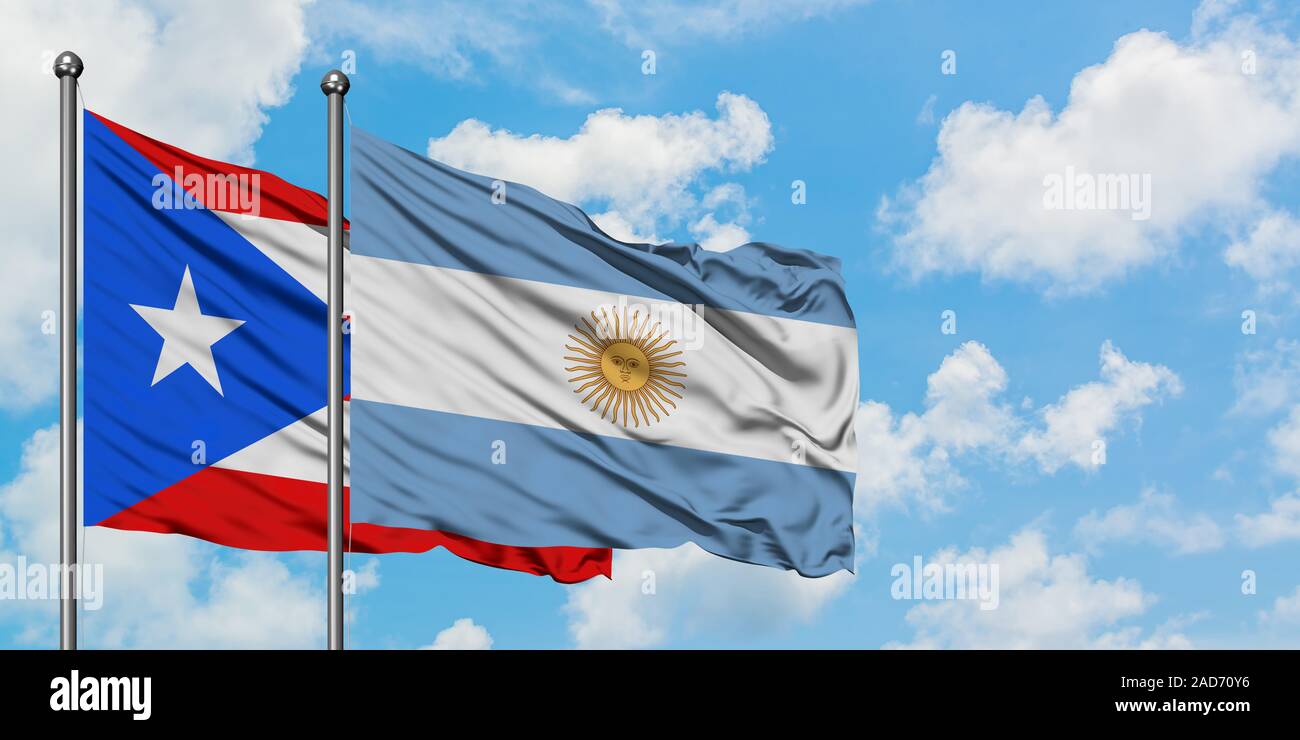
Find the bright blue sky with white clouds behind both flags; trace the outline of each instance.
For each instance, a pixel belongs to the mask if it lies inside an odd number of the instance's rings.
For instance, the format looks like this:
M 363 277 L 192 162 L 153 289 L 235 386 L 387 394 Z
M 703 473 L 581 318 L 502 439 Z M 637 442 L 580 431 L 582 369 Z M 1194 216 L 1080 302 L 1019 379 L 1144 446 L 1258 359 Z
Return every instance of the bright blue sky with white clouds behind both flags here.
M 620 553 L 614 583 L 581 587 L 445 551 L 356 557 L 352 646 L 489 635 L 495 648 L 1300 645 L 1294 12 L 448 0 L 250 4 L 239 20 L 183 4 L 55 5 L 4 10 L 22 16 L 6 26 L 30 29 L 4 52 L 32 70 L 20 98 L 32 105 L 5 146 L 32 172 L 55 166 L 55 86 L 36 70 L 72 47 L 87 60 L 91 108 L 324 190 L 317 82 L 355 55 L 352 124 L 403 147 L 433 142 L 471 169 L 500 163 L 510 172 L 485 174 L 578 200 L 610 230 L 719 247 L 740 233 L 844 263 L 871 471 L 855 496 L 855 577 L 802 581 L 692 548 Z M 139 64 L 107 39 L 136 39 Z M 96 64 L 110 72 L 96 77 Z M 727 117 L 724 92 L 759 120 Z M 584 135 L 597 111 L 624 146 Z M 36 143 L 17 151 L 25 137 Z M 556 150 L 593 170 L 556 172 Z M 676 166 L 647 174 L 636 151 Z M 1045 209 L 1043 177 L 1066 165 L 1149 174 L 1150 218 Z M 792 203 L 793 181 L 805 204 Z M 52 212 L 42 183 L 20 194 L 25 211 Z M 4 284 L 6 300 L 39 315 L 53 300 L 52 218 L 16 221 L 29 282 L 48 290 Z M 1243 311 L 1256 313 L 1253 334 Z M 57 365 L 48 337 L 4 342 L 22 358 L 0 380 L 0 480 L 12 481 L 0 554 L 12 555 L 48 546 L 48 443 L 29 440 L 56 420 L 39 376 Z M 84 616 L 88 645 L 322 641 L 324 555 L 178 540 L 87 533 L 87 558 L 112 554 L 105 609 Z M 998 563 L 998 609 L 892 598 L 890 570 L 916 555 Z M 299 613 L 303 624 L 285 624 Z M 0 645 L 49 644 L 53 614 L 0 602 Z

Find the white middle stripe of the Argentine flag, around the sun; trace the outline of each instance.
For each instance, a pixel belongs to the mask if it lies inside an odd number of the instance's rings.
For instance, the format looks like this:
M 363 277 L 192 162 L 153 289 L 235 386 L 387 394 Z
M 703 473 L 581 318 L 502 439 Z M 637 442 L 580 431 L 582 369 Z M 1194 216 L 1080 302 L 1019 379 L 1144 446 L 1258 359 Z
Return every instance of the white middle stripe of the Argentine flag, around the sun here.
M 351 269 L 356 399 L 857 471 L 854 329 L 703 310 L 698 347 L 675 358 L 677 410 L 624 428 L 580 403 L 563 359 L 573 324 L 618 294 L 361 255 Z

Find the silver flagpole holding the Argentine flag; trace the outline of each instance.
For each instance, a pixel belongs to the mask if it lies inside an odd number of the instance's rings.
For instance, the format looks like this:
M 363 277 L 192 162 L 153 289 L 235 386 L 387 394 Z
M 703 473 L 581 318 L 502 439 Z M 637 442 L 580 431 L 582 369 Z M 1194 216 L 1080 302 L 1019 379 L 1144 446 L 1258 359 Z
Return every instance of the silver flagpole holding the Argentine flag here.
M 339 70 L 321 79 L 329 99 L 329 649 L 343 649 L 343 96 Z

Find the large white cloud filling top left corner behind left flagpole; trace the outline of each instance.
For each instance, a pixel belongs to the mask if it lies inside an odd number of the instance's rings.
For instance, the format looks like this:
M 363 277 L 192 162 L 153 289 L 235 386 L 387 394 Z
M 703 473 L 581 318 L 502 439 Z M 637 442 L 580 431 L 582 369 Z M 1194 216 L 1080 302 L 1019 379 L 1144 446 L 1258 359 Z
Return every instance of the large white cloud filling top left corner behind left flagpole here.
M 40 332 L 42 312 L 58 303 L 55 55 L 82 56 L 82 95 L 95 112 L 207 156 L 248 161 L 265 111 L 291 92 L 307 46 L 302 5 L 0 5 L 0 27 L 9 31 L 0 64 L 8 95 L 23 101 L 5 112 L 0 139 L 0 157 L 22 173 L 0 185 L 8 233 L 0 294 L 12 319 L 0 334 L 0 408 L 49 398 L 58 375 L 56 338 Z

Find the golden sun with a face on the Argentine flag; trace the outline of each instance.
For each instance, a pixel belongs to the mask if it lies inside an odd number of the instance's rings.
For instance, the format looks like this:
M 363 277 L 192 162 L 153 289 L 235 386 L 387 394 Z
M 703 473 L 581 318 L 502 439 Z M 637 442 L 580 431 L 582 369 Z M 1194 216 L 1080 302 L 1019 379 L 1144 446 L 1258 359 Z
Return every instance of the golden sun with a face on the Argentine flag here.
M 681 351 L 668 351 L 677 342 L 668 339 L 658 321 L 638 311 L 629 316 L 627 308 L 621 316 L 616 308 L 612 315 L 601 308 L 599 319 L 593 311 L 592 321 L 585 316 L 580 320 L 582 325 L 573 325 L 577 334 L 569 334 L 572 343 L 564 345 L 569 351 L 564 359 L 575 364 L 564 369 L 573 373 L 573 393 L 586 394 L 584 404 L 590 402 L 601 419 L 614 411 L 610 421 L 624 427 L 629 419 L 636 427 L 659 421 L 677 408 L 673 398 L 681 401 L 681 394 L 673 389 L 686 386 L 673 378 L 686 373 L 671 368 L 686 363 L 672 359 Z

